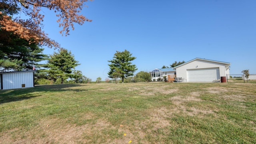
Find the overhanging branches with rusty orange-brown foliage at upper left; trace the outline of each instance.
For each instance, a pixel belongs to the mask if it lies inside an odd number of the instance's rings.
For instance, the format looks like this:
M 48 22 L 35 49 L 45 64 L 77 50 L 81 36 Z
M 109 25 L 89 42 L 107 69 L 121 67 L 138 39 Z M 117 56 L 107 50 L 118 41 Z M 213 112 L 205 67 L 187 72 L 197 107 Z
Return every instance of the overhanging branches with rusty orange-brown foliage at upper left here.
M 29 43 L 60 48 L 57 42 L 42 31 L 44 12 L 41 10 L 55 12 L 59 27 L 62 28 L 60 33 L 67 36 L 70 28 L 74 30 L 74 23 L 82 25 L 85 21 L 92 21 L 79 14 L 88 1 L 92 0 L 0 0 L 0 29 L 13 32 Z M 12 18 L 18 12 L 23 12 L 29 18 Z

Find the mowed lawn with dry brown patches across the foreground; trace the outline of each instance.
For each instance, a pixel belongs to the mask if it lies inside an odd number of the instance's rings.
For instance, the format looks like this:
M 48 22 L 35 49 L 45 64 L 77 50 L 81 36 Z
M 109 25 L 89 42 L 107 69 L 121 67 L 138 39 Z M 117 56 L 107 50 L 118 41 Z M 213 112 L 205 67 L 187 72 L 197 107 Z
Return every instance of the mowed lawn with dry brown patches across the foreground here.
M 62 84 L 0 91 L 1 144 L 256 143 L 256 84 Z

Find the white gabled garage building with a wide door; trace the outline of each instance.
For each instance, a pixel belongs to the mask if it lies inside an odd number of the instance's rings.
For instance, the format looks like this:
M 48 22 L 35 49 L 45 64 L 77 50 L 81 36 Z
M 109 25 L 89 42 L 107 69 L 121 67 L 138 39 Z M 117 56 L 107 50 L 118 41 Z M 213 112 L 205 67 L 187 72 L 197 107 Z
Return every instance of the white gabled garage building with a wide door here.
M 228 62 L 195 58 L 173 69 L 176 70 L 176 77 L 182 78 L 185 82 L 212 82 L 221 78 L 226 79 L 229 66 Z

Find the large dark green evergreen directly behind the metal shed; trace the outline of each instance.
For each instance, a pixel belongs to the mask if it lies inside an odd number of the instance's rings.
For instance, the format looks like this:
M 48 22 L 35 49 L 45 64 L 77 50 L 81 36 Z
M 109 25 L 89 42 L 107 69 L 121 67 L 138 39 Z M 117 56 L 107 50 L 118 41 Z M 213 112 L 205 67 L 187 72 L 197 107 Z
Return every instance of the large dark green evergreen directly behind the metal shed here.
M 0 30 L 0 71 L 32 70 L 33 66 L 40 66 L 38 62 L 46 60 L 48 56 L 43 54 L 44 48 L 19 38 L 11 32 Z

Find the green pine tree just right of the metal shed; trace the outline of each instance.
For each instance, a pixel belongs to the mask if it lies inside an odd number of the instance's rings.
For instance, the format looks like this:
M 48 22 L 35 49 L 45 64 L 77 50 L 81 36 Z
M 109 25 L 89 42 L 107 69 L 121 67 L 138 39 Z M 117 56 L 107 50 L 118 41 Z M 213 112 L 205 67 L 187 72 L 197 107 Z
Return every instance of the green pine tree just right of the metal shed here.
M 54 82 L 61 78 L 61 84 L 63 84 L 64 79 L 72 78 L 74 68 L 78 66 L 78 61 L 75 60 L 74 55 L 70 51 L 62 48 L 54 54 L 50 55 L 46 68 L 49 68 L 47 72 L 49 73 L 50 79 Z

